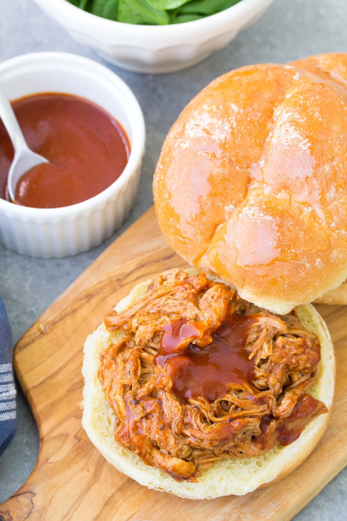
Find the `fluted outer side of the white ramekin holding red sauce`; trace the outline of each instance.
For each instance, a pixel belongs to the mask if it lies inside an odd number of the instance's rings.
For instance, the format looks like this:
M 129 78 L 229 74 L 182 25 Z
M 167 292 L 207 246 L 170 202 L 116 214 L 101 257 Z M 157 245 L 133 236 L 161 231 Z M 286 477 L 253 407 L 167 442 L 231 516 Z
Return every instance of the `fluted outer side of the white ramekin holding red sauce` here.
M 121 189 L 88 210 L 56 218 L 24 217 L 16 206 L 0 208 L 0 242 L 32 257 L 66 257 L 97 246 L 121 226 L 135 200 L 141 162 Z

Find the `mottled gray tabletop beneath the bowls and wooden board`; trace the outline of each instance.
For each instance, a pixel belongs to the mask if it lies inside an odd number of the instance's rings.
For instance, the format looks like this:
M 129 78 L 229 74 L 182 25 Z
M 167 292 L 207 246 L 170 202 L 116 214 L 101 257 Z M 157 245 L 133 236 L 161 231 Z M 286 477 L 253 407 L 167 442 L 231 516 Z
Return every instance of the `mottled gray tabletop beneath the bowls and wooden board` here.
M 182 108 L 203 86 L 223 72 L 242 65 L 265 61 L 284 63 L 308 54 L 346 51 L 346 28 L 345 0 L 275 0 L 253 27 L 194 68 L 172 75 L 142 76 L 111 67 L 137 96 L 144 111 L 148 136 L 136 203 L 114 237 L 152 203 L 152 175 L 165 134 Z M 0 60 L 35 51 L 67 51 L 98 60 L 74 43 L 32 0 L 1 0 Z M 60 260 L 32 259 L 0 247 L 0 293 L 15 341 L 114 237 L 88 253 Z M 37 430 L 20 391 L 17 405 L 17 433 L 0 457 L 0 502 L 22 485 L 37 457 Z M 347 469 L 344 469 L 295 517 L 295 521 L 347 519 L 346 487 Z

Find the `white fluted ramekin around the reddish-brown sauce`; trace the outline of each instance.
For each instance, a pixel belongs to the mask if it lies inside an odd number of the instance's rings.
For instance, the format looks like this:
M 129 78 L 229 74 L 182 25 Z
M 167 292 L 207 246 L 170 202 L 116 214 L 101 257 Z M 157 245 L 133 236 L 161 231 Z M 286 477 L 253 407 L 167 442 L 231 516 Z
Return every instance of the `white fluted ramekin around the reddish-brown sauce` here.
M 128 86 L 93 60 L 68 53 L 33 53 L 0 64 L 10 100 L 39 92 L 87 98 L 117 119 L 131 144 L 121 176 L 103 192 L 62 208 L 29 208 L 0 199 L 0 242 L 34 257 L 75 255 L 100 244 L 122 224 L 135 199 L 145 151 L 142 110 Z

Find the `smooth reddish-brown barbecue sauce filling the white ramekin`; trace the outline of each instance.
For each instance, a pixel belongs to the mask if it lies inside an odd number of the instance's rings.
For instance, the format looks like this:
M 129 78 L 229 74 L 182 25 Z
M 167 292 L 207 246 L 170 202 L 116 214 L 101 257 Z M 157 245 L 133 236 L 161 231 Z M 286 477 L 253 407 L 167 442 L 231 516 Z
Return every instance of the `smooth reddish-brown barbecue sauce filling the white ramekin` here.
M 125 131 L 93 102 L 47 92 L 20 98 L 12 107 L 29 148 L 50 162 L 24 173 L 15 203 L 32 208 L 80 203 L 106 190 L 124 170 L 130 154 Z M 7 201 L 13 155 L 0 120 L 0 197 Z

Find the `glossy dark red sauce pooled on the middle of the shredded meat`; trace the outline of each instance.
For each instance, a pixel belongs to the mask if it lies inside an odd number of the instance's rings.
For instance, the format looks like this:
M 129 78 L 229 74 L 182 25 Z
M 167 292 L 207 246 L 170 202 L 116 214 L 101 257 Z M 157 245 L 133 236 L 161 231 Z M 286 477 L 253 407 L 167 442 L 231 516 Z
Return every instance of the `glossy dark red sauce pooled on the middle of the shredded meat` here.
M 249 359 L 245 344 L 254 315 L 231 313 L 212 334 L 212 342 L 200 347 L 187 338 L 199 338 L 199 322 L 173 319 L 164 326 L 160 353 L 155 363 L 165 367 L 172 380 L 173 393 L 183 401 L 204 398 L 212 403 L 223 398 L 231 387 L 250 384 L 254 378 L 254 359 Z M 178 346 L 178 347 L 177 347 Z

